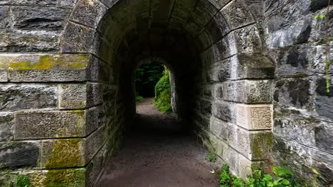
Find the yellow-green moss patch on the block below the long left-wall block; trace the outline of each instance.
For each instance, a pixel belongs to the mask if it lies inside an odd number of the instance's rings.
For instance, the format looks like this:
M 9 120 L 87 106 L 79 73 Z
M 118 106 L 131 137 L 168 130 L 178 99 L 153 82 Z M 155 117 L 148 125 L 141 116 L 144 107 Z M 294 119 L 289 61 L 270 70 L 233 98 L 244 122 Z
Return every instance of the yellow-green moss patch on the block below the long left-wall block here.
M 45 162 L 46 168 L 61 168 L 65 166 L 82 166 L 84 158 L 80 138 L 56 140 L 51 143 L 52 151 Z

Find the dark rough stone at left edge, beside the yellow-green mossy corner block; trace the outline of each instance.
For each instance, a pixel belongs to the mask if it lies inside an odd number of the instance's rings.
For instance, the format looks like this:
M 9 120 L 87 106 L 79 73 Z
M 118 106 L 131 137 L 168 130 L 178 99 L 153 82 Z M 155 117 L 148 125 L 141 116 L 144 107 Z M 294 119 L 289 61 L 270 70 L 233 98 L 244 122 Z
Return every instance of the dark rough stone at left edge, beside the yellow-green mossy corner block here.
M 39 142 L 0 142 L 1 168 L 38 166 Z

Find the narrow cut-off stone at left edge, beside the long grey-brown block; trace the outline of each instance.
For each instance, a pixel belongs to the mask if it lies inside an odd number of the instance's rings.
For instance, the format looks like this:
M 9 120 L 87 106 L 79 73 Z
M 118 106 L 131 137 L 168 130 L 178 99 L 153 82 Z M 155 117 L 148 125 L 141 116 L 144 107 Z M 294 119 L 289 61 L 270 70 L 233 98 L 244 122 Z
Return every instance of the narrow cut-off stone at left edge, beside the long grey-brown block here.
M 13 140 L 13 113 L 0 113 L 0 142 Z

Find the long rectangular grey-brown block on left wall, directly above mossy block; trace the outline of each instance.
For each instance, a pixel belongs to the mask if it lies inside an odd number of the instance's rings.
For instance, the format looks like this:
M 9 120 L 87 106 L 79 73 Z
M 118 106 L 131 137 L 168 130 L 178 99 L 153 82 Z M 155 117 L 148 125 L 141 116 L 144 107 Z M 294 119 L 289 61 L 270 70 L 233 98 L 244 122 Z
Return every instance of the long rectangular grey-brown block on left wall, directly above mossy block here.
M 15 118 L 16 140 L 85 136 L 85 111 L 21 112 Z

